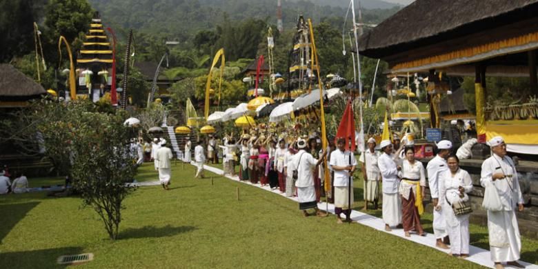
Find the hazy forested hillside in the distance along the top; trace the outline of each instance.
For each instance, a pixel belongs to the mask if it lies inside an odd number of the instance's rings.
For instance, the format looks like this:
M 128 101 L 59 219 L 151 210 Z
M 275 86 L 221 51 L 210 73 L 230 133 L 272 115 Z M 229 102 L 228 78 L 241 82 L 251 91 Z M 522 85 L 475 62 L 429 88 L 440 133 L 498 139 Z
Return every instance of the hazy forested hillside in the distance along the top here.
M 299 14 L 312 18 L 315 23 L 330 17 L 331 21 L 337 24 L 346 14 L 347 5 L 343 3 L 346 1 L 283 0 L 284 28 L 293 28 Z M 186 39 L 199 30 L 219 26 L 225 21 L 225 17 L 230 21 L 254 18 L 277 24 L 277 0 L 89 0 L 89 2 L 93 8 L 101 12 L 103 21 L 112 26 L 166 34 L 177 39 Z M 320 5 L 329 2 L 332 2 L 330 6 Z M 379 23 L 401 8 L 377 0 L 364 2 L 365 4 L 379 2 L 377 6 L 392 7 L 390 10 L 363 10 L 364 21 L 368 23 Z

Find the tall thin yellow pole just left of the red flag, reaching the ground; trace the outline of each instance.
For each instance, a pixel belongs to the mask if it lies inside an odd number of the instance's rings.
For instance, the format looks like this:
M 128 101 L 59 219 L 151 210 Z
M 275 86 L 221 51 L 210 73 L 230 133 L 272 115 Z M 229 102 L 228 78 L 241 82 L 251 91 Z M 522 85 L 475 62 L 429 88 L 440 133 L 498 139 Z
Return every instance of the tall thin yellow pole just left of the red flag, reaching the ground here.
M 317 71 L 317 83 L 319 85 L 319 117 L 321 119 L 321 147 L 323 147 L 323 150 L 327 150 L 327 132 L 325 128 L 325 110 L 323 110 L 323 83 L 321 83 L 321 77 L 319 76 L 319 63 L 317 59 L 317 50 L 316 50 L 316 42 L 314 40 L 314 30 L 312 29 L 312 20 L 308 19 L 308 26 L 310 27 L 310 39 L 312 39 L 312 54 L 313 54 L 313 61 L 312 61 L 312 70 L 314 70 L 314 66 L 317 65 L 316 71 Z M 323 186 L 325 188 L 326 192 L 330 192 L 331 186 L 330 186 L 330 177 L 329 177 L 329 169 L 327 167 L 327 161 L 323 161 L 323 172 L 324 172 L 324 183 Z M 326 193 L 325 195 L 326 199 L 328 199 L 328 195 Z M 328 203 L 328 201 L 326 201 Z

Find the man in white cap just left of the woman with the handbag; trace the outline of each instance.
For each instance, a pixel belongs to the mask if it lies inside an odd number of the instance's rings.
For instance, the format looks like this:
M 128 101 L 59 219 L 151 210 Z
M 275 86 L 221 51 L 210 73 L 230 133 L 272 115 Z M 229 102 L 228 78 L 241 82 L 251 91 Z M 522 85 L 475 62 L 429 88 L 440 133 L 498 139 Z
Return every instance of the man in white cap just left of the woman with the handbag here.
M 437 156 L 431 159 L 426 166 L 428 171 L 428 186 L 430 187 L 430 196 L 433 203 L 433 235 L 437 239 L 435 246 L 448 250 L 446 246 L 449 243 L 448 233 L 446 232 L 446 221 L 443 217 L 443 208 L 438 206 L 439 203 L 439 186 L 443 184 L 442 178 L 439 176 L 442 172 L 448 170 L 446 164 L 446 158 L 450 155 L 450 149 L 452 148 L 452 142 L 448 140 L 441 140 L 437 143 Z

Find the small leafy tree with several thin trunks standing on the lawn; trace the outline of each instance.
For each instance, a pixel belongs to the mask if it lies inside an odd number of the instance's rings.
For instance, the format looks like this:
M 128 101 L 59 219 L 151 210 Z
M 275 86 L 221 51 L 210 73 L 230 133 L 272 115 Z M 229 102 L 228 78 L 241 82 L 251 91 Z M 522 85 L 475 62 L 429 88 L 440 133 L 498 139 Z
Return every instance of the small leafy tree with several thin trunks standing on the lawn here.
M 75 121 L 71 168 L 73 186 L 83 205 L 101 217 L 110 239 L 117 239 L 123 199 L 135 190 L 128 183 L 136 174 L 129 148 L 124 115 L 89 112 Z

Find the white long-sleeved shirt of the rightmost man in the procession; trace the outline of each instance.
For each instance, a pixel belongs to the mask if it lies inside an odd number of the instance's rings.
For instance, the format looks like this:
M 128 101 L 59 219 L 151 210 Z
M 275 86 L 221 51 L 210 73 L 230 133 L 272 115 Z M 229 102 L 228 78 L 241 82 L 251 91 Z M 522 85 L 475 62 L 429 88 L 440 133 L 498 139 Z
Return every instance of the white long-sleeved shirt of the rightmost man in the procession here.
M 493 181 L 492 175 L 498 172 L 507 177 Z M 524 203 L 514 162 L 508 156 L 501 158 L 494 154 L 486 159 L 482 163 L 480 184 L 484 188 L 487 188 L 490 184 L 497 188 L 497 193 L 499 193 L 503 210 L 505 211 L 514 210 L 517 203 Z

